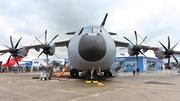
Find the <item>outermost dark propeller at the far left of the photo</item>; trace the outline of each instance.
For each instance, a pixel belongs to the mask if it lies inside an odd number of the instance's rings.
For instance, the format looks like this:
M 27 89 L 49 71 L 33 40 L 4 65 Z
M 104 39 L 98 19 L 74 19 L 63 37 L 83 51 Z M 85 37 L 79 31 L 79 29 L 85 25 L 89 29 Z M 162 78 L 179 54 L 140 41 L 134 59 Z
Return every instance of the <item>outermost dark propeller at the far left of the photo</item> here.
M 14 46 L 14 44 L 13 44 L 13 42 L 12 42 L 12 36 L 10 36 L 11 47 L 4 45 L 5 47 L 7 47 L 7 48 L 9 49 L 7 52 L 10 53 L 10 56 L 9 56 L 9 58 L 8 58 L 8 60 L 7 60 L 7 64 L 9 63 L 11 56 L 13 56 L 13 57 L 15 58 L 15 61 L 16 61 L 17 65 L 19 66 L 17 57 L 18 57 L 18 50 L 20 50 L 21 48 L 17 49 L 17 47 L 18 47 L 19 42 L 21 41 L 21 39 L 22 39 L 22 37 L 18 40 L 18 42 L 17 42 L 16 45 Z M 7 53 L 7 52 L 2 53 L 1 55 L 5 54 L 5 53 Z

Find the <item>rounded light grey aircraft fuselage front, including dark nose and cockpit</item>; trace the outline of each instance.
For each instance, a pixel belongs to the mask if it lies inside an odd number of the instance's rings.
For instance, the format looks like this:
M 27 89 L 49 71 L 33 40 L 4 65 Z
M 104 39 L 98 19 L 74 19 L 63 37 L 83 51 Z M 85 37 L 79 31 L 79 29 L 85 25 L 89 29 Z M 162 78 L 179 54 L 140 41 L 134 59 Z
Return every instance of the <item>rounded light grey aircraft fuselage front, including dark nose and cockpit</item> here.
M 77 31 L 68 45 L 68 57 L 78 70 L 107 70 L 116 55 L 114 40 L 102 26 L 87 26 Z

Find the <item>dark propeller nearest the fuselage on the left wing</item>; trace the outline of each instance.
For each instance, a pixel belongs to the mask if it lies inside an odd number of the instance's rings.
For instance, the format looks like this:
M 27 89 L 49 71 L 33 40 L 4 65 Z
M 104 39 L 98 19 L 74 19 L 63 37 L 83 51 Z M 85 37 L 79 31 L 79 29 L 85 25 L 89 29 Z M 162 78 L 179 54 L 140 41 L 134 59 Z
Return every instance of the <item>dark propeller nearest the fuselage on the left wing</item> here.
M 41 48 L 43 49 L 43 51 L 38 55 L 37 58 L 39 58 L 42 53 L 46 54 L 46 59 L 48 60 L 48 55 L 50 53 L 50 44 L 51 42 L 57 37 L 58 35 L 56 35 L 54 38 L 51 39 L 51 41 L 48 43 L 47 42 L 47 30 L 45 30 L 45 43 L 43 44 L 37 37 L 35 37 L 40 43 L 41 43 Z M 48 63 L 48 62 L 47 62 Z

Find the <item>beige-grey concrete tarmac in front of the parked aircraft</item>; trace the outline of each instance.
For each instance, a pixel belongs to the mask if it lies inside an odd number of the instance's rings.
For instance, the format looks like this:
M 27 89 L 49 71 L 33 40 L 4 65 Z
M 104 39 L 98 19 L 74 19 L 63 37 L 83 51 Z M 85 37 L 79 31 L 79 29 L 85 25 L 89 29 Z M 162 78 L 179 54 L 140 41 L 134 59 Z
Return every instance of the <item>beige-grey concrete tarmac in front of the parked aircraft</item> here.
M 41 81 L 38 72 L 0 73 L 0 101 L 180 101 L 180 74 L 177 70 L 118 73 L 87 84 L 69 77 Z

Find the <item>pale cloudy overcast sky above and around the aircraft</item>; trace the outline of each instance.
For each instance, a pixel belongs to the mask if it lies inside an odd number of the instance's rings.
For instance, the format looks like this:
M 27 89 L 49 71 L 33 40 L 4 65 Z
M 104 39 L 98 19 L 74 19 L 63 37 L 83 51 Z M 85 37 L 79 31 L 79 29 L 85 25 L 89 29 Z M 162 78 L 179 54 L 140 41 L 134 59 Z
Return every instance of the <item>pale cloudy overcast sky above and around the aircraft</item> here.
M 116 32 L 115 40 L 127 42 L 126 36 L 135 42 L 134 30 L 141 37 L 148 36 L 150 46 L 160 46 L 158 40 L 167 46 L 170 36 L 171 47 L 180 38 L 179 0 L 0 0 L 0 49 L 10 46 L 10 35 L 16 44 L 39 44 L 34 36 L 44 42 L 44 30 L 48 30 L 48 40 L 59 36 L 54 42 L 71 38 L 66 32 L 79 30 L 86 25 L 101 24 L 108 13 L 105 28 Z M 139 43 L 142 39 L 139 38 Z M 34 42 L 35 41 L 35 42 Z M 144 45 L 146 45 L 144 43 Z M 180 49 L 178 44 L 175 50 Z M 117 49 L 118 50 L 118 49 Z M 59 58 L 67 57 L 65 47 L 56 48 Z M 127 52 L 127 50 L 121 50 Z M 9 57 L 5 54 L 0 60 Z M 36 59 L 38 52 L 30 50 L 24 60 Z M 45 57 L 43 54 L 41 58 Z M 56 58 L 56 57 L 55 57 Z

